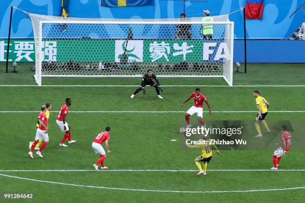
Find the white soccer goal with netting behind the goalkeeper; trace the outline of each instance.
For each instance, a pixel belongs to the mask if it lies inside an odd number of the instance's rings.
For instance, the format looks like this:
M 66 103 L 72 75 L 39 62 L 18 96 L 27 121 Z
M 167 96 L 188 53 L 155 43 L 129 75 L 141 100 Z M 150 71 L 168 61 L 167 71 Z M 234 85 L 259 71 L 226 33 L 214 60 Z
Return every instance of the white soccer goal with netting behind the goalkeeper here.
M 139 77 L 148 68 L 158 77 L 222 77 L 232 86 L 234 22 L 228 15 L 209 22 L 28 15 L 39 86 L 42 77 Z

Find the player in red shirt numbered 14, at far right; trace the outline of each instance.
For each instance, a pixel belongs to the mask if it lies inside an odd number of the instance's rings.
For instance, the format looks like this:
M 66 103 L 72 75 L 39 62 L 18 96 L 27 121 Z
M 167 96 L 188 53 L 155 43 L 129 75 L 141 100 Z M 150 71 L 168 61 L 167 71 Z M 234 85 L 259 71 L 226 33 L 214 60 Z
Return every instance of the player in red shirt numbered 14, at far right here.
M 278 148 L 273 153 L 273 167 L 272 170 L 278 170 L 279 163 L 281 161 L 282 156 L 286 154 L 290 150 L 291 145 L 291 134 L 287 131 L 287 125 L 282 125 L 283 128 L 283 134 L 282 134 L 282 142 L 277 143 L 276 145 L 281 145 L 280 148 Z

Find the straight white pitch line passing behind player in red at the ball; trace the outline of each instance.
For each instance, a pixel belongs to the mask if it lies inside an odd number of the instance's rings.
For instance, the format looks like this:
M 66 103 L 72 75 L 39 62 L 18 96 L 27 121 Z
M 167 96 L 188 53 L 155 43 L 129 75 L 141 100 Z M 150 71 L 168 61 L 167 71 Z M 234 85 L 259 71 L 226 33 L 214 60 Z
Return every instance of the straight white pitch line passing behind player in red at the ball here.
M 0 113 L 38 113 L 39 111 L 0 111 Z M 58 111 L 50 111 L 58 112 Z M 69 111 L 71 113 L 185 113 L 186 111 Z M 205 113 L 209 111 L 203 111 Z M 254 113 L 256 110 L 212 111 L 212 113 Z M 274 110 L 270 113 L 305 113 L 305 110 Z

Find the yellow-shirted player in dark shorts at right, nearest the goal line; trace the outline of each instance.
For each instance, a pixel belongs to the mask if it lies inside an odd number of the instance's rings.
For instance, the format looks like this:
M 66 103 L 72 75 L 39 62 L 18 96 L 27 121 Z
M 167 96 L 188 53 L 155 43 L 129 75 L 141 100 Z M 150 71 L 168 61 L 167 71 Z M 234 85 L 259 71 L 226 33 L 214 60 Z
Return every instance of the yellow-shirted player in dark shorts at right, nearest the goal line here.
M 256 90 L 253 92 L 253 97 L 255 97 L 258 113 L 255 118 L 255 128 L 257 130 L 258 135 L 256 137 L 263 137 L 260 124 L 262 122 L 264 127 L 266 128 L 266 132 L 270 132 L 270 129 L 265 121 L 265 117 L 268 114 L 268 108 L 270 103 L 267 100 L 260 96 L 260 91 Z

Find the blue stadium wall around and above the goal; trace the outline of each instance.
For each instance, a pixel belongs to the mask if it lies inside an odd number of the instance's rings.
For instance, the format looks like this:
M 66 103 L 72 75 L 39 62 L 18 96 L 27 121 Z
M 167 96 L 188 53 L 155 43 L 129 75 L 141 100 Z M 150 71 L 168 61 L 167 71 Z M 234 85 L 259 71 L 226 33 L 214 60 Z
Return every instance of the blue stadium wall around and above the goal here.
M 303 0 L 265 0 L 263 19 L 247 20 L 247 38 L 255 39 L 248 40 L 249 62 L 305 62 L 303 40 L 297 42 L 279 40 L 287 38 L 305 20 L 302 11 L 289 18 L 302 2 Z M 12 5 L 28 12 L 58 16 L 61 0 L 0 0 L 0 38 L 2 39 L 7 38 L 9 11 Z M 211 15 L 227 14 L 244 5 L 245 0 L 188 0 L 186 15 L 202 16 L 204 9 L 209 9 Z M 182 0 L 154 0 L 152 6 L 115 8 L 101 7 L 100 0 L 70 0 L 69 4 L 71 17 L 173 18 L 179 17 L 182 11 Z M 238 11 L 230 15 L 230 20 L 235 23 L 234 59 L 240 62 L 243 62 L 242 41 L 238 40 L 244 37 L 242 14 Z M 22 12 L 13 13 L 11 37 L 33 38 L 31 21 Z M 274 40 L 264 40 L 262 43 L 258 39 Z M 270 50 L 276 50 L 275 55 L 270 54 Z M 291 54 L 287 54 L 287 50 L 291 50 Z

